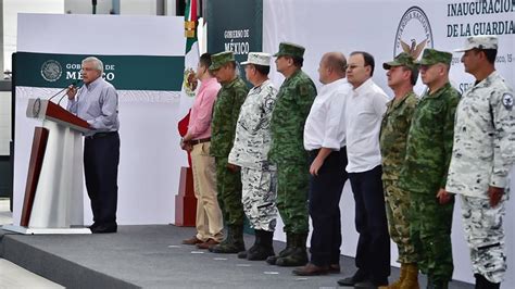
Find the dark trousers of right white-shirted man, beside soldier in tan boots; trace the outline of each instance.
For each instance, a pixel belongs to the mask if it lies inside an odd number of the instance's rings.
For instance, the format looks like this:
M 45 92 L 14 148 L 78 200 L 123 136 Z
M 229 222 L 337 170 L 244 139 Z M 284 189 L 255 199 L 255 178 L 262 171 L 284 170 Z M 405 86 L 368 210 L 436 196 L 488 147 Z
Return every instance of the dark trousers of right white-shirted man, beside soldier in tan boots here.
M 390 275 L 390 236 L 381 174 L 380 165 L 349 174 L 355 201 L 354 222 L 360 234 L 355 264 L 373 281 L 381 281 Z

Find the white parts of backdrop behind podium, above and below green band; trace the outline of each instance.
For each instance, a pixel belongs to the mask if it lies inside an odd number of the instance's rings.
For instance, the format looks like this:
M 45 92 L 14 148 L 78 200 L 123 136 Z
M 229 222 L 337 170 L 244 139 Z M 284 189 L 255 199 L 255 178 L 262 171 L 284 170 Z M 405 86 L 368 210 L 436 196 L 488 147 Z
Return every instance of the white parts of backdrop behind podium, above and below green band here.
M 18 21 L 18 51 L 184 55 L 183 17 L 21 14 Z M 56 91 L 16 89 L 14 224 L 20 222 L 33 131 L 38 124 L 25 116 L 27 100 L 48 98 Z M 178 115 L 179 92 L 118 90 L 118 224 L 174 223 L 174 196 L 178 191 L 180 165 L 186 163 L 186 154 L 178 149 L 177 121 L 184 116 Z M 89 224 L 87 194 L 84 202 L 85 222 Z

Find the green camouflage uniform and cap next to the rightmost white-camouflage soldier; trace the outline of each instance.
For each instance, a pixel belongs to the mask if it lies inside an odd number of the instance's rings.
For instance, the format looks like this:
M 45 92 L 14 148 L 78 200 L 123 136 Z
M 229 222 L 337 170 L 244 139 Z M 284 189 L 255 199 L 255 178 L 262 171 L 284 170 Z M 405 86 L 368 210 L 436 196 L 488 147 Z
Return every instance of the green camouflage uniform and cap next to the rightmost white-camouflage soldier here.
M 452 54 L 426 49 L 419 64 L 450 64 Z M 399 185 L 411 193 L 411 238 L 420 271 L 429 282 L 447 288 L 453 273 L 451 226 L 454 199 L 440 204 L 451 160 L 454 114 L 460 92 L 448 83 L 426 92 L 415 109 L 407 135 L 406 158 Z

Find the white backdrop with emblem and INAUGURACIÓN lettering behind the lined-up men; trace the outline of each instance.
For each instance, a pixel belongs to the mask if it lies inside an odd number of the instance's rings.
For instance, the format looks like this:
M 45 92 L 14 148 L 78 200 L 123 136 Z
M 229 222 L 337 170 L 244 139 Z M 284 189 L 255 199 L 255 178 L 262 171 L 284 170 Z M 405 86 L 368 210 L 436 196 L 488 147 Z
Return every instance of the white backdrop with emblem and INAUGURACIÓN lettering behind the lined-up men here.
M 227 17 L 238 17 L 239 11 L 227 8 Z M 248 8 L 250 10 L 251 8 Z M 222 13 L 222 12 L 221 12 Z M 277 52 L 279 42 L 290 41 L 305 47 L 303 70 L 318 83 L 318 63 L 328 51 L 341 51 L 347 56 L 352 51 L 367 51 L 375 56 L 374 81 L 392 96 L 387 86 L 382 63 L 390 61 L 402 51 L 422 55 L 425 48 L 451 51 L 463 47 L 465 38 L 478 34 L 499 35 L 497 70 L 514 84 L 514 40 L 515 2 L 513 0 L 264 0 L 263 1 L 263 51 Z M 211 26 L 210 26 L 211 29 Z M 217 28 L 224 30 L 224 28 Z M 229 26 L 225 28 L 229 30 Z M 210 34 L 211 36 L 211 34 Z M 219 40 L 217 40 L 219 41 Z M 453 53 L 450 72 L 451 84 L 461 92 L 474 83 L 474 77 L 464 72 L 460 58 Z M 271 70 L 271 78 L 277 87 L 282 75 Z M 422 95 L 425 86 L 420 79 L 415 88 Z M 515 177 L 512 173 L 512 188 Z M 354 229 L 354 200 L 350 184 L 346 185 L 341 198 L 342 253 L 354 255 L 357 234 Z M 503 287 L 515 288 L 515 204 L 507 203 L 504 228 L 506 234 L 508 272 Z M 456 202 L 453 218 L 454 278 L 473 281 L 468 248 L 464 241 L 460 213 Z M 276 238 L 284 239 L 281 227 Z M 397 247 L 392 243 L 392 264 L 397 261 Z

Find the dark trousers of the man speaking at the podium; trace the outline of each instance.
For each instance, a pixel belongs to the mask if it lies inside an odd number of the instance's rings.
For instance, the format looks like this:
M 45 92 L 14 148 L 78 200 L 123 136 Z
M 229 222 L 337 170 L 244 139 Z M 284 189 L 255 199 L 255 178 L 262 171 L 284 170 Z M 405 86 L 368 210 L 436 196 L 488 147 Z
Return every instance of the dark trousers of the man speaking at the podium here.
M 116 222 L 118 198 L 118 133 L 100 133 L 86 137 L 84 141 L 84 173 L 86 188 L 91 200 L 93 222 L 109 224 Z

